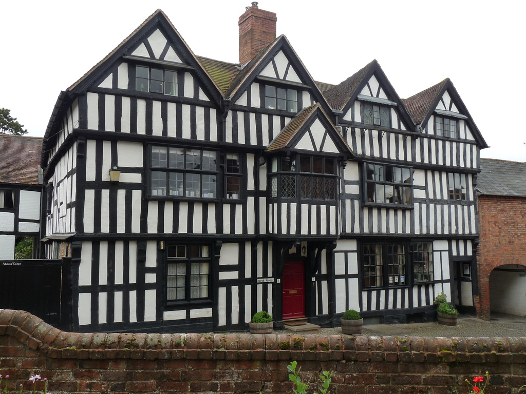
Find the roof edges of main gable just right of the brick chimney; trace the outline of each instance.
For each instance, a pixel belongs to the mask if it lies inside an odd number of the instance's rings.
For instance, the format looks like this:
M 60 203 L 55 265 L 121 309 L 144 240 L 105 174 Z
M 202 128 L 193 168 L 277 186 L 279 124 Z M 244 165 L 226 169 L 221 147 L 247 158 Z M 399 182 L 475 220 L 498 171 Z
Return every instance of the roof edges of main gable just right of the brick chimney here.
M 315 80 L 312 79 L 309 71 L 298 57 L 294 48 L 292 48 L 285 35 L 276 37 L 274 41 L 262 49 L 254 58 L 252 58 L 252 60 L 242 67 L 236 77 L 232 80 L 230 87 L 225 92 L 225 97 L 230 98 L 232 102 L 237 100 L 280 50 L 283 51 L 289 61 L 295 66 L 295 71 L 297 72 L 298 77 L 305 85 L 308 85 L 311 88 L 311 94 L 315 98 L 315 101 L 320 102 L 323 108 L 330 112 L 331 108 L 325 96 L 322 95 Z

